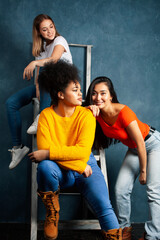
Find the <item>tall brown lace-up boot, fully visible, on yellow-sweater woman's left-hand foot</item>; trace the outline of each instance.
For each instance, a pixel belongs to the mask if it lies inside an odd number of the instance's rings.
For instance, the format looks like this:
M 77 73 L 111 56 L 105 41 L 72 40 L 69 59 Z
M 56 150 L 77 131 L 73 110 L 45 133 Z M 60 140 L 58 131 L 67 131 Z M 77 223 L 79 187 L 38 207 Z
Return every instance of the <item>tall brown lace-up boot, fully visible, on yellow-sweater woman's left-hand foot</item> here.
M 54 240 L 58 236 L 59 221 L 59 190 L 56 192 L 38 192 L 46 207 L 46 219 L 44 223 L 44 236 L 48 240 Z

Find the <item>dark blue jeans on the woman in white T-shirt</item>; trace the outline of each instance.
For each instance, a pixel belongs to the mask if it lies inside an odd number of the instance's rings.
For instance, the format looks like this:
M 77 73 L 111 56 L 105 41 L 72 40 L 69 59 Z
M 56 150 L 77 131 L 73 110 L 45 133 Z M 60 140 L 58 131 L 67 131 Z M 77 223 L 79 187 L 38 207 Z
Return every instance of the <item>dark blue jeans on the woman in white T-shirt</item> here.
M 18 146 L 22 144 L 21 139 L 22 120 L 19 110 L 22 107 L 28 105 L 32 101 L 32 98 L 35 97 L 36 88 L 35 85 L 31 85 L 13 94 L 6 101 L 8 123 L 11 131 L 13 146 Z M 41 90 L 40 112 L 44 108 L 49 107 L 50 102 L 51 100 L 49 94 Z

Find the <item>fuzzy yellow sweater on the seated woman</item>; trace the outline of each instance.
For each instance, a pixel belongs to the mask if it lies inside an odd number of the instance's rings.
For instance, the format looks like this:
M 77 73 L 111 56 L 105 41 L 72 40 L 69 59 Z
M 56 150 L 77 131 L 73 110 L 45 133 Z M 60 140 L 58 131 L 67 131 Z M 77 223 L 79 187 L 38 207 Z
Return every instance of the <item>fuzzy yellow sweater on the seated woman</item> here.
M 90 110 L 77 106 L 71 117 L 61 117 L 53 106 L 39 117 L 38 149 L 50 151 L 50 160 L 67 170 L 82 174 L 91 153 L 96 120 Z

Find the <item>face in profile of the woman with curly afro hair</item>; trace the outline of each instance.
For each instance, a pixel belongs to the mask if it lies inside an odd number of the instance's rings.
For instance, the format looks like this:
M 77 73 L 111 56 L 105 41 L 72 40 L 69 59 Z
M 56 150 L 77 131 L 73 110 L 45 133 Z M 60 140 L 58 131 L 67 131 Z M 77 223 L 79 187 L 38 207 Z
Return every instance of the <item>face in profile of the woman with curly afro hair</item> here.
M 58 93 L 58 97 L 67 106 L 80 106 L 82 104 L 82 92 L 79 82 L 70 82 L 64 92 Z

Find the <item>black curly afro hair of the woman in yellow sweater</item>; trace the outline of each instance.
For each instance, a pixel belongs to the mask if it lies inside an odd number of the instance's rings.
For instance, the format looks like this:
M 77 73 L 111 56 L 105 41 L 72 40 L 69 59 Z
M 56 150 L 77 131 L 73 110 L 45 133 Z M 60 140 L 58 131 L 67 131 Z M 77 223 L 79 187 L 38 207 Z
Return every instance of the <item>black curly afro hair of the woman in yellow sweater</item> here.
M 40 86 L 49 92 L 52 104 L 58 104 L 58 92 L 64 92 L 70 82 L 80 82 L 79 71 L 75 65 L 59 60 L 46 63 L 39 74 Z

